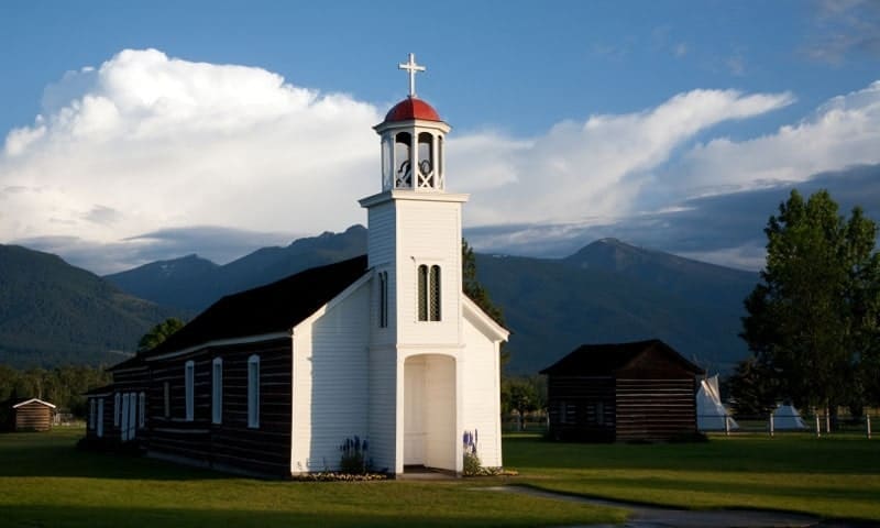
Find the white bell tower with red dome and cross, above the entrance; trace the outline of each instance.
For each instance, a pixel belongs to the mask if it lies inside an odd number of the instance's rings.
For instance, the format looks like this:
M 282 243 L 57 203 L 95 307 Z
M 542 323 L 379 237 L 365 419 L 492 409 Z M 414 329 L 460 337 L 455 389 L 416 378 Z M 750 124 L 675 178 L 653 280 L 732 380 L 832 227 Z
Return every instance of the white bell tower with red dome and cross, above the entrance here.
M 461 342 L 461 208 L 468 195 L 447 191 L 446 135 L 451 128 L 416 96 L 415 56 L 398 65 L 409 95 L 375 125 L 382 190 L 367 209 L 367 255 L 374 283 L 374 345 L 458 346 Z

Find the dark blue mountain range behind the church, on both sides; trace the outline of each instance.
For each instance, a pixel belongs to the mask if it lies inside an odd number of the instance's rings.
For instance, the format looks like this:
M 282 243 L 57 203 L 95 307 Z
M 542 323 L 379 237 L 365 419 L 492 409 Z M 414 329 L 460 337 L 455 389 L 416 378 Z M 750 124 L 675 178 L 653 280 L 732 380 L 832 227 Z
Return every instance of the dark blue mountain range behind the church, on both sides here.
M 0 362 L 114 362 L 167 317 L 191 317 L 223 295 L 365 250 L 366 229 L 354 226 L 224 265 L 189 255 L 98 277 L 55 255 L 0 245 Z M 510 373 L 535 373 L 584 343 L 652 338 L 713 372 L 746 356 L 737 333 L 756 273 L 615 239 L 564 258 L 477 254 L 476 263 L 512 330 Z

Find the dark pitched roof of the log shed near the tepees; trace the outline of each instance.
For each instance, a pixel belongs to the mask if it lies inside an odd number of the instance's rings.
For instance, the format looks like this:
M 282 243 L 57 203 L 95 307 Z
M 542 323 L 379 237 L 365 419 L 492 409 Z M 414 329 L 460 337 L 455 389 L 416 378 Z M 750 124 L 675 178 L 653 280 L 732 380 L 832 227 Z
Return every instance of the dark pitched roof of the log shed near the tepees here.
M 639 355 L 656 350 L 684 370 L 702 374 L 703 370 L 682 358 L 672 346 L 651 339 L 631 343 L 582 344 L 569 355 L 548 366 L 541 374 L 570 376 L 612 376 Z

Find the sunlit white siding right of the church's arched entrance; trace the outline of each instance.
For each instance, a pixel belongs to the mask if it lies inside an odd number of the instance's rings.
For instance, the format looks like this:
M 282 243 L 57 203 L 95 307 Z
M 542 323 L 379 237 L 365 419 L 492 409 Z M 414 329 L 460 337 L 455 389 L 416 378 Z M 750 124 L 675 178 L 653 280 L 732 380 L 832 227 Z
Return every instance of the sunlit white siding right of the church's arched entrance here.
M 462 427 L 479 431 L 479 455 L 483 465 L 502 465 L 501 400 L 495 343 L 466 319 L 464 320 L 465 349 L 462 352 L 462 386 L 465 402 Z M 464 431 L 459 431 L 459 436 Z

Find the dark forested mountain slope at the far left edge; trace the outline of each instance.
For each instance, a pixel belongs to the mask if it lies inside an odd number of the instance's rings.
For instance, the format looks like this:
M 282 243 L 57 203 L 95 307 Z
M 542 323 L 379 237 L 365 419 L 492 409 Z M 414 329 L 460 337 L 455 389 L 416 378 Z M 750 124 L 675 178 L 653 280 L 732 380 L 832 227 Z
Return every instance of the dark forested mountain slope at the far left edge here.
M 182 315 L 56 255 L 0 245 L 0 363 L 118 363 L 156 322 Z

